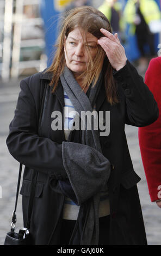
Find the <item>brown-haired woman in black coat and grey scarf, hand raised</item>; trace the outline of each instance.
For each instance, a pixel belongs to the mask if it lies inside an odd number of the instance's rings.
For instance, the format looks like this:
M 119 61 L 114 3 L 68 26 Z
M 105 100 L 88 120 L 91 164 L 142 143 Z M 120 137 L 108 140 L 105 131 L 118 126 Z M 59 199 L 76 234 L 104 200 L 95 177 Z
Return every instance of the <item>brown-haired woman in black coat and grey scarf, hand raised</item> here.
M 124 130 L 125 124 L 153 123 L 158 108 L 107 18 L 92 7 L 71 10 L 53 64 L 20 86 L 7 145 L 26 166 L 24 223 L 32 172 L 38 171 L 30 225 L 34 245 L 146 245 L 136 185 L 140 178 Z M 79 118 L 93 109 L 99 129 L 87 129 Z M 89 124 L 90 115 L 87 119 Z

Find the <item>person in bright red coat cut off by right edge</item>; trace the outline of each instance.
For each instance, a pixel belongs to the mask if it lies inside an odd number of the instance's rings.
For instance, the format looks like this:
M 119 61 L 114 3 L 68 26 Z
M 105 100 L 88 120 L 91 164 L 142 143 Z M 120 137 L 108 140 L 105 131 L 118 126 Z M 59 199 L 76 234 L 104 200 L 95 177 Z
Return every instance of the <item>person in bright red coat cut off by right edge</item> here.
M 161 57 L 151 59 L 145 83 L 157 101 L 159 117 L 153 124 L 139 127 L 139 145 L 151 202 L 161 208 Z

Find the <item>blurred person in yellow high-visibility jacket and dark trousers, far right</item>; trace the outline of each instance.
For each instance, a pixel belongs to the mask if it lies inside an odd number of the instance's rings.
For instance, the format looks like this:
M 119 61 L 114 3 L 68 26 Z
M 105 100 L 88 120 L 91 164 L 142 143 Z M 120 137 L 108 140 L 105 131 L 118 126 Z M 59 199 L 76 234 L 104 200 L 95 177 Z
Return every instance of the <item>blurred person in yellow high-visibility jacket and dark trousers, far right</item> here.
M 154 34 L 149 29 L 149 23 L 161 18 L 160 10 L 154 0 L 128 0 L 123 11 L 124 20 L 130 25 L 129 32 L 137 37 L 140 51 L 139 71 L 147 68 L 147 53 L 145 44 L 150 48 L 150 57 L 156 55 L 154 50 Z

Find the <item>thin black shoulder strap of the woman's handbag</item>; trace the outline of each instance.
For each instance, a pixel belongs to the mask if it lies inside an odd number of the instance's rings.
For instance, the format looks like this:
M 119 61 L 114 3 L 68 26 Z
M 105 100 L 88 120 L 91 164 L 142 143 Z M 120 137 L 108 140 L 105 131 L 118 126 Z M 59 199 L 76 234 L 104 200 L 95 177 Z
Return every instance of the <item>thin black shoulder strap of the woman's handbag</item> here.
M 48 88 L 48 86 L 47 86 L 47 84 L 45 84 L 43 92 L 42 92 L 43 95 L 42 95 L 41 109 L 40 109 L 39 123 L 38 123 L 38 127 L 39 127 L 40 130 L 41 130 L 41 125 L 42 125 L 41 118 L 42 118 L 42 114 L 44 112 L 44 102 L 46 100 L 47 93 L 48 93 L 47 88 Z M 20 190 L 21 174 L 22 174 L 22 163 L 20 163 L 20 167 L 19 167 L 16 201 L 15 201 L 15 209 L 13 211 L 13 217 L 12 217 L 11 231 L 15 230 L 15 223 L 17 221 L 16 209 L 17 209 L 18 194 L 19 194 L 19 190 Z M 32 210 L 33 210 L 37 175 L 38 175 L 38 172 L 33 169 L 32 170 L 32 180 L 31 180 L 31 185 L 30 185 L 30 194 L 29 194 L 28 217 L 27 217 L 27 223 L 26 223 L 26 227 L 25 227 L 26 230 L 28 230 L 28 231 L 29 231 L 29 228 L 30 228 L 30 218 L 31 218 L 31 215 L 32 215 Z

